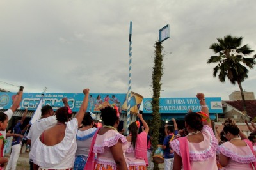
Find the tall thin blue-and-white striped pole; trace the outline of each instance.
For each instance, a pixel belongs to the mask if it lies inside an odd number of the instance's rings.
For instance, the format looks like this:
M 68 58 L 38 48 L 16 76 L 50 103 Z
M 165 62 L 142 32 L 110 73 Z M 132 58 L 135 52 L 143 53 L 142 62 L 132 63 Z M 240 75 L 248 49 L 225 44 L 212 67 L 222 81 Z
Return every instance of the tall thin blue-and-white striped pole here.
M 129 87 L 128 87 L 128 98 L 127 98 L 127 135 L 129 135 L 128 127 L 131 122 L 131 115 L 130 115 L 130 100 L 131 100 L 131 77 L 132 77 L 132 21 L 130 21 L 130 31 L 129 31 Z

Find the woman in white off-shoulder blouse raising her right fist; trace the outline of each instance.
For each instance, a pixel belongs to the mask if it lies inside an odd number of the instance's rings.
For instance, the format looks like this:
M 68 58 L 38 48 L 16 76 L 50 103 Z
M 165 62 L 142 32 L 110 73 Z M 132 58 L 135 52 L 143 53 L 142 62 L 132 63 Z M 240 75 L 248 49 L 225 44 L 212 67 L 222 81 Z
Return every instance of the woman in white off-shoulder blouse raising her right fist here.
M 71 119 L 69 107 L 61 107 L 56 111 L 57 124 L 42 132 L 33 144 L 29 155 L 39 170 L 73 168 L 76 134 L 87 109 L 89 89 L 84 89 L 83 93 L 83 103 L 76 116 Z

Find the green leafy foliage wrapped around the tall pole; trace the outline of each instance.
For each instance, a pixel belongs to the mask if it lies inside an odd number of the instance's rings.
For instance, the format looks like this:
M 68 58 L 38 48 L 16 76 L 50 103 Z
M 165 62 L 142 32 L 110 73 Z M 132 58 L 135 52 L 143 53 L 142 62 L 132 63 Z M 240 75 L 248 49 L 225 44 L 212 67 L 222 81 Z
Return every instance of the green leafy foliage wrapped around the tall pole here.
M 155 57 L 154 57 L 154 68 L 152 71 L 152 87 L 153 87 L 153 97 L 152 97 L 152 146 L 153 155 L 156 151 L 158 145 L 159 128 L 161 126 L 161 116 L 159 114 L 159 98 L 161 91 L 161 77 L 163 75 L 163 46 L 161 42 L 156 42 L 155 44 Z M 154 169 L 157 169 L 157 164 L 154 164 Z

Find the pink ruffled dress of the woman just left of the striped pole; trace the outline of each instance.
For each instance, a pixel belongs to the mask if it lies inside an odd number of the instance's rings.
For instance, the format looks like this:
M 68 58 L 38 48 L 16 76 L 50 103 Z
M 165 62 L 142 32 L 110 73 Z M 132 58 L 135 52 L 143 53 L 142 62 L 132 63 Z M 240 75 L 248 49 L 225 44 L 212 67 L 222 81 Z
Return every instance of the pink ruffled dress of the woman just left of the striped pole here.
M 110 147 L 118 143 L 119 139 L 122 142 L 122 151 L 125 157 L 127 140 L 124 135 L 119 134 L 116 130 L 108 130 L 108 132 L 103 135 L 97 134 L 96 141 L 93 146 L 93 153 L 97 153 L 95 169 L 115 170 L 117 168 Z

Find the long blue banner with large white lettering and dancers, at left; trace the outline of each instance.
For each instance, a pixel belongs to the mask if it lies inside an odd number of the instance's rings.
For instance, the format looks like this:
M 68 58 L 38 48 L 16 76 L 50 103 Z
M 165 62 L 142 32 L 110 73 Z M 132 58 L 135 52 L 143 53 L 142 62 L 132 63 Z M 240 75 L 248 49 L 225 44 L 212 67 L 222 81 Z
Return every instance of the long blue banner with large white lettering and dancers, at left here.
M 0 92 L 0 107 L 3 107 L 3 109 L 10 109 L 16 95 L 17 93 Z M 28 108 L 28 110 L 35 110 L 41 97 L 41 93 L 23 93 L 19 109 Z M 73 112 L 79 111 L 84 98 L 83 93 L 46 93 L 43 97 L 43 105 L 51 105 L 55 111 L 64 106 L 62 102 L 62 98 L 64 97 L 68 98 L 68 105 Z M 116 104 L 120 108 L 125 100 L 125 93 L 92 93 L 89 97 L 88 110 L 92 112 L 100 112 L 102 107 L 111 104 Z

